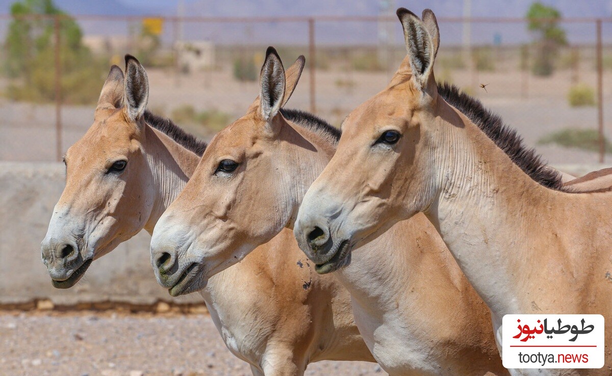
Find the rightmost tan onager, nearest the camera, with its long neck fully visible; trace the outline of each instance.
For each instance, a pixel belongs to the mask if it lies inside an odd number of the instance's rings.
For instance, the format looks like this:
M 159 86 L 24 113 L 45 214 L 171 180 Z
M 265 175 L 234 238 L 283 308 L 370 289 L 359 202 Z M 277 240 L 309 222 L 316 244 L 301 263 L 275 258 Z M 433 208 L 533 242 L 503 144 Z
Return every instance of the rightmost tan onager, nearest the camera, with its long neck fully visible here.
M 500 344 L 506 314 L 605 317 L 603 369 L 513 374 L 610 375 L 612 192 L 565 191 L 498 116 L 436 84 L 433 13 L 420 20 L 400 9 L 398 17 L 408 56 L 389 86 L 346 118 L 334 158 L 300 207 L 300 247 L 324 268 L 425 213 L 491 309 Z

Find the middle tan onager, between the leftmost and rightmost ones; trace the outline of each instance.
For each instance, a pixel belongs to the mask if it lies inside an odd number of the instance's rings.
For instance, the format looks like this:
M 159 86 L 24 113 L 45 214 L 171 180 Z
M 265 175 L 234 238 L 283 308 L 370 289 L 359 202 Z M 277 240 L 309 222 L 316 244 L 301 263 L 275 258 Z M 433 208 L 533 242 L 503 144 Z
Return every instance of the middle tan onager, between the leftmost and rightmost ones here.
M 165 287 L 206 286 L 228 262 L 239 262 L 293 227 L 305 191 L 335 152 L 338 130 L 282 109 L 283 93 L 296 77 L 285 75 L 274 48 L 266 53 L 260 81 L 259 97 L 215 136 L 155 226 L 152 258 L 178 265 L 156 271 Z M 487 307 L 425 216 L 398 223 L 367 247 L 369 252 L 354 257 L 353 273 L 339 277 L 351 292 L 357 326 L 384 370 L 507 374 Z M 270 257 L 274 265 L 283 256 Z M 304 268 L 314 265 L 304 262 Z M 313 279 L 311 288 L 317 283 Z

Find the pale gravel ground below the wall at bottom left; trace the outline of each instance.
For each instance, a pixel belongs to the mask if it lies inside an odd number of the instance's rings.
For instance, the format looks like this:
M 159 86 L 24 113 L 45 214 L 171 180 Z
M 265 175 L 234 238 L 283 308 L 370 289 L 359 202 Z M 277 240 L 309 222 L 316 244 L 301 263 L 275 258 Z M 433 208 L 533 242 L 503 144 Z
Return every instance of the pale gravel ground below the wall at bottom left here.
M 366 362 L 322 361 L 306 375 L 386 375 Z M 0 312 L 0 375 L 251 375 L 211 317 L 116 312 Z

